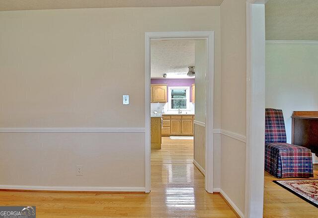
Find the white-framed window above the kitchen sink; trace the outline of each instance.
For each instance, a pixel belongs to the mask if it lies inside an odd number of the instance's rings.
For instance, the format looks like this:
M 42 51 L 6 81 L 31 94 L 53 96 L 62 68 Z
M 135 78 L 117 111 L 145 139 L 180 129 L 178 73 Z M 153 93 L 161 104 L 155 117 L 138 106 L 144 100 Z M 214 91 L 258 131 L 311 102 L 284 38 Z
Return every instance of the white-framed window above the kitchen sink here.
M 168 87 L 168 110 L 190 110 L 190 86 Z

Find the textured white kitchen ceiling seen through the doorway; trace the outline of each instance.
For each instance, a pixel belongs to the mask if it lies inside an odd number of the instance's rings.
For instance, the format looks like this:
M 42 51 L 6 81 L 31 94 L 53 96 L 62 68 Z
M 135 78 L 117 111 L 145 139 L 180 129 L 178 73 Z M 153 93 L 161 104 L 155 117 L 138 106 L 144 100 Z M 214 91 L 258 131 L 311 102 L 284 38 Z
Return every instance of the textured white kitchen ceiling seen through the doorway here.
M 194 66 L 194 42 L 191 39 L 152 40 L 151 77 L 162 78 L 163 73 L 187 73 Z

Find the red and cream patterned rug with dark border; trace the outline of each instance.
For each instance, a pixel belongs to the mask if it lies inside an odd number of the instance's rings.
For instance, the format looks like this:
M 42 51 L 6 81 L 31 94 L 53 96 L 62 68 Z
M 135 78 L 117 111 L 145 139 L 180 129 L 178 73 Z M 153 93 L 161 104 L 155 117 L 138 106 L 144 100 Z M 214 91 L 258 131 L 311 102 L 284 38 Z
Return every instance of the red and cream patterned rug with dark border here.
M 318 208 L 318 179 L 275 180 L 273 182 Z

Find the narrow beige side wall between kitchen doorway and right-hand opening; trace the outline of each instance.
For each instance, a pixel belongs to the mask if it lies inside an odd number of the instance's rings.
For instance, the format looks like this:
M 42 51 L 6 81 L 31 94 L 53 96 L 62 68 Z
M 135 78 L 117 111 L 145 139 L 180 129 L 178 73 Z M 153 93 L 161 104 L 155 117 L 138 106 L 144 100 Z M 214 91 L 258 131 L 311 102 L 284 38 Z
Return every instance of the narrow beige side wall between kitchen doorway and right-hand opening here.
M 246 132 L 246 0 L 221 4 L 221 129 Z M 221 190 L 244 214 L 246 143 L 221 137 Z

